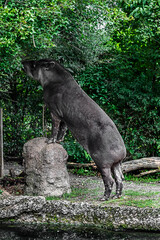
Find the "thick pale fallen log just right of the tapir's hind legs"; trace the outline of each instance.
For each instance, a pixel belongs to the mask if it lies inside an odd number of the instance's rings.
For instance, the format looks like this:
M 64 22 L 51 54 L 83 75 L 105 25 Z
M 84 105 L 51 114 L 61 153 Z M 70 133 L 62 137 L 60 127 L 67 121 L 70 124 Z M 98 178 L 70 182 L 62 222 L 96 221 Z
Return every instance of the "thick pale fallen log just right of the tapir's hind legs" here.
M 122 164 L 123 173 L 132 172 L 140 169 L 158 169 L 160 168 L 159 157 L 141 158 L 124 162 Z

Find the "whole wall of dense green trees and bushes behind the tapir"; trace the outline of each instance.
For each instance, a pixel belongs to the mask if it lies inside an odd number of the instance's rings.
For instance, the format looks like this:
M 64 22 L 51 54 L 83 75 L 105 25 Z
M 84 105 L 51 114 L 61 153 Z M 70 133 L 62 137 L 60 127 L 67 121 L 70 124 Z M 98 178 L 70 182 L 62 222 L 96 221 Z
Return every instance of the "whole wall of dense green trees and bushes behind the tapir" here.
M 114 120 L 128 157 L 160 156 L 160 1 L 1 0 L 0 106 L 4 153 L 49 134 L 42 88 L 22 59 L 54 58 Z M 50 128 L 49 113 L 46 112 Z M 70 159 L 90 161 L 68 132 Z

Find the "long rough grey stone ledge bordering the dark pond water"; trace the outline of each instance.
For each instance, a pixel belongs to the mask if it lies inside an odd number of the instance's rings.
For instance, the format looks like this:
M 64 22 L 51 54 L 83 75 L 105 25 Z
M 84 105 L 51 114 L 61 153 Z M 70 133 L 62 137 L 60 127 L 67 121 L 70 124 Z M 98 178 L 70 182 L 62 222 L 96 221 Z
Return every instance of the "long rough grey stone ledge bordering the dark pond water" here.
M 0 222 L 84 224 L 106 229 L 159 231 L 160 209 L 66 200 L 47 201 L 42 196 L 11 196 L 0 200 Z

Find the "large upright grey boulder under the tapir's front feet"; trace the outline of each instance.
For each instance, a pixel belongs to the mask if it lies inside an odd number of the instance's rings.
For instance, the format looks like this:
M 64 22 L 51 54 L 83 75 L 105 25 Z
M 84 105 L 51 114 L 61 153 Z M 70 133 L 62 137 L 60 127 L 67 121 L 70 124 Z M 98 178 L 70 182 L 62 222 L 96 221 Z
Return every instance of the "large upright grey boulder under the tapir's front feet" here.
M 61 196 L 70 193 L 68 158 L 57 143 L 46 143 L 46 138 L 34 138 L 23 147 L 27 195 Z

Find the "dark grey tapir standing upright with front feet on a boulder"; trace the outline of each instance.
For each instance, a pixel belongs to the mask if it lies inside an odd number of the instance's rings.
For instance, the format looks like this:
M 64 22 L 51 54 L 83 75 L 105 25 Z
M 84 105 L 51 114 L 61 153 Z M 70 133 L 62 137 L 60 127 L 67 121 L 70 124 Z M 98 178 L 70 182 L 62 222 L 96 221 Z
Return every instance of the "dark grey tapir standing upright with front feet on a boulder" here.
M 111 197 L 114 179 L 114 197 L 119 198 L 123 189 L 121 162 L 126 157 L 126 148 L 114 122 L 57 61 L 42 59 L 22 64 L 27 75 L 43 87 L 54 126 L 49 142 L 62 140 L 68 127 L 102 175 L 105 192 L 101 200 Z

